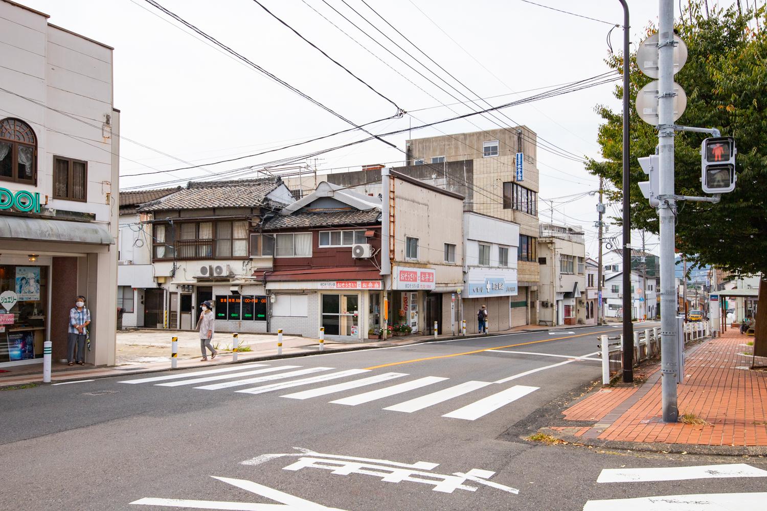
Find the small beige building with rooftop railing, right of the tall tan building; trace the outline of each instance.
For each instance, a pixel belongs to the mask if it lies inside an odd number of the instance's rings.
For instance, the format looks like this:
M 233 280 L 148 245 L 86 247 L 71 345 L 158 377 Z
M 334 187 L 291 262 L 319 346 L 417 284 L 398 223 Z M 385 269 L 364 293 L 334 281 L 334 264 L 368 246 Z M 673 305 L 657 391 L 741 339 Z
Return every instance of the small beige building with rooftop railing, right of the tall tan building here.
M 586 247 L 581 226 L 541 224 L 538 263 L 541 267 L 543 325 L 586 322 Z

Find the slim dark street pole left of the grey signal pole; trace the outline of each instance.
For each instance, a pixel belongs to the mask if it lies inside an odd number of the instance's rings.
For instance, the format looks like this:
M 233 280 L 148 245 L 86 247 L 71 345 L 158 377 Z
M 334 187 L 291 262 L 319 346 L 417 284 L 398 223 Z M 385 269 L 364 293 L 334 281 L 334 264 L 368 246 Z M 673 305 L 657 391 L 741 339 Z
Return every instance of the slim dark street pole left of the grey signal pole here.
M 634 382 L 634 325 L 631 323 L 631 217 L 630 217 L 630 173 L 629 173 L 629 24 L 628 24 L 628 4 L 626 0 L 619 0 L 624 8 L 624 95 L 623 95 L 623 381 L 624 383 Z M 663 5 L 661 3 L 661 5 Z M 672 11 L 673 16 L 673 11 Z M 673 20 L 672 20 L 673 22 Z M 671 32 L 669 32 L 671 33 Z M 673 34 L 672 34 L 673 35 Z M 673 40 L 672 40 L 673 41 Z M 671 55 L 671 54 L 669 54 Z M 671 69 L 669 61 L 669 69 Z M 670 84 L 669 84 L 670 85 Z M 669 104 L 668 108 L 673 116 L 673 106 Z M 669 124 L 673 124 L 670 117 Z M 672 131 L 673 135 L 673 131 Z M 673 138 L 672 138 L 673 141 Z M 673 143 L 673 142 L 672 142 Z M 673 164 L 673 163 L 672 163 Z M 673 181 L 672 181 L 673 186 Z M 672 239 L 673 242 L 673 239 Z

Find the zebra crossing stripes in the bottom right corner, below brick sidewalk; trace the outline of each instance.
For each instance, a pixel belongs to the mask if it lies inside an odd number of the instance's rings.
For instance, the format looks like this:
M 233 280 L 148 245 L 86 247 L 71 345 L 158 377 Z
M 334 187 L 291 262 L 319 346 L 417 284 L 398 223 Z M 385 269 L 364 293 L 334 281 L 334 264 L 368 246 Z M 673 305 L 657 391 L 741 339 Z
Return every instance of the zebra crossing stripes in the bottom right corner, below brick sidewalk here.
M 767 477 L 767 470 L 748 464 L 699 465 L 694 467 L 647 467 L 604 469 L 597 483 L 657 483 L 697 479 Z M 761 486 L 763 487 L 763 486 Z M 652 491 L 649 487 L 648 490 Z M 625 490 L 624 490 L 625 493 Z M 589 500 L 583 511 L 724 511 L 764 509 L 765 492 L 690 493 L 642 496 L 628 499 Z

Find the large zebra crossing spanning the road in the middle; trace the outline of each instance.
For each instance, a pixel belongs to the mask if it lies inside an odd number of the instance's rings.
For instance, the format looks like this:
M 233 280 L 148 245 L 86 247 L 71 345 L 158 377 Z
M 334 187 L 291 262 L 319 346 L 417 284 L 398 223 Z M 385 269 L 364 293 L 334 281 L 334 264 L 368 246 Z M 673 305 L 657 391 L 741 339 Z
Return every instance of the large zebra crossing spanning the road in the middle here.
M 443 376 L 408 378 L 405 372 L 381 372 L 370 369 L 345 369 L 335 371 L 331 367 L 304 368 L 301 365 L 269 365 L 264 363 L 242 364 L 236 367 L 206 369 L 181 374 L 151 376 L 123 380 L 119 383 L 130 385 L 150 384 L 157 387 L 192 387 L 199 391 L 222 391 L 231 389 L 238 394 L 258 395 L 284 391 L 295 387 L 311 387 L 305 390 L 288 391 L 281 398 L 305 401 L 327 396 L 331 405 L 357 406 L 374 401 L 386 401 L 386 411 L 412 414 L 426 408 L 445 403 L 461 396 L 477 394 L 476 401 L 456 408 L 444 418 L 476 421 L 506 405 L 524 398 L 538 387 L 513 385 L 508 388 L 499 382 L 454 382 Z M 345 380 L 333 382 L 334 380 Z M 328 382 L 328 385 L 324 385 Z M 332 382 L 332 383 L 331 383 Z M 258 385 L 262 384 L 262 385 Z M 245 388 L 243 388 L 245 387 Z M 436 389 L 437 387 L 441 387 Z M 499 390 L 493 391 L 494 388 Z M 360 391 L 357 393 L 357 389 Z M 425 394 L 391 403 L 397 397 L 415 391 Z M 351 392 L 351 395 L 348 395 Z M 481 395 L 480 395 L 481 394 Z M 401 397 L 400 397 L 401 398 Z M 465 401 L 463 401 L 465 402 Z

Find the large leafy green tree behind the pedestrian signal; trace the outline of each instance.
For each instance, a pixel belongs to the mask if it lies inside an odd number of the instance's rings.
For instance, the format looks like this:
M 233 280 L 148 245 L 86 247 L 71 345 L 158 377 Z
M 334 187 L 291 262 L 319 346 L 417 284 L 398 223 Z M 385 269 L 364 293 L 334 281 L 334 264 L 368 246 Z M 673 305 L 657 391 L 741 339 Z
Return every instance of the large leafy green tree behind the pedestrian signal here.
M 734 192 L 723 194 L 719 204 L 684 202 L 678 205 L 676 247 L 688 260 L 713 264 L 735 274 L 767 277 L 767 25 L 765 9 L 743 11 L 733 7 L 713 8 L 709 15 L 703 3 L 685 8 L 676 22 L 676 31 L 686 42 L 689 56 L 675 80 L 687 93 L 687 108 L 677 122 L 686 126 L 716 127 L 724 136 L 734 136 L 738 153 L 738 182 Z M 647 35 L 656 29 L 647 29 Z M 630 172 L 632 227 L 658 232 L 657 213 L 641 194 L 646 181 L 637 157 L 655 152 L 657 130 L 640 120 L 634 109 L 637 92 L 652 79 L 637 67 L 636 54 L 630 58 Z M 614 55 L 607 64 L 621 70 L 623 55 Z M 622 99 L 623 88 L 615 97 Z M 622 118 L 600 105 L 604 119 L 598 133 L 604 161 L 590 160 L 587 169 L 601 175 L 618 190 L 622 182 Z M 680 132 L 675 145 L 675 190 L 679 195 L 703 195 L 700 186 L 700 144 L 703 135 Z M 620 192 L 611 193 L 620 200 Z M 609 196 L 609 195 L 608 195 Z M 767 280 L 759 291 L 757 354 L 767 355 Z M 759 346 L 759 349 L 757 349 Z

